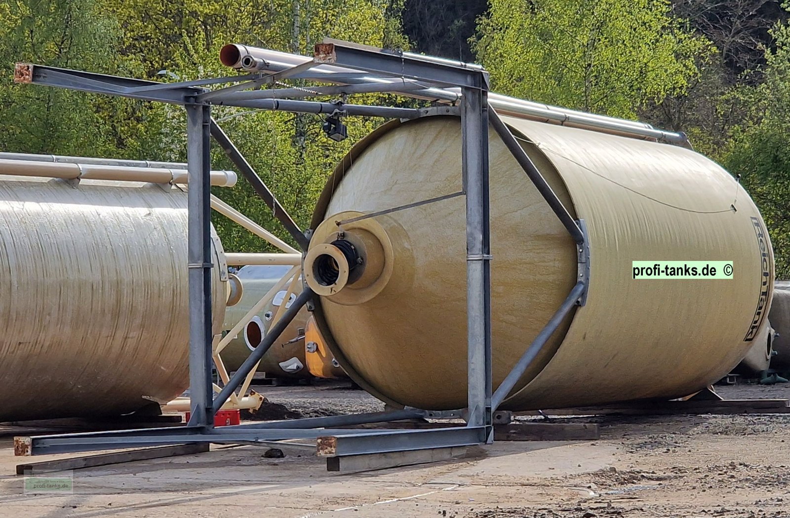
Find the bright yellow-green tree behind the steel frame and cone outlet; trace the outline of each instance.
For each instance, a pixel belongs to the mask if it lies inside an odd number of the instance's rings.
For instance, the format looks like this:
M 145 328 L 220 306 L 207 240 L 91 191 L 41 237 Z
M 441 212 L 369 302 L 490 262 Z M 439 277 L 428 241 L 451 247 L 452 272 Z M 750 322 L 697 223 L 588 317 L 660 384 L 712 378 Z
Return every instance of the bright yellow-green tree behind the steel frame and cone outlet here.
M 226 43 L 299 54 L 311 54 L 314 44 L 325 36 L 379 47 L 406 44 L 397 21 L 399 0 L 253 0 L 240 5 L 227 0 L 103 2 L 123 28 L 119 54 L 126 68 L 159 81 L 232 74 L 219 61 L 220 48 Z M 163 121 L 160 140 L 149 148 L 148 157 L 185 160 L 183 111 L 161 105 L 157 109 Z M 233 107 L 215 107 L 213 115 L 282 205 L 307 228 L 318 193 L 353 138 L 342 143 L 329 141 L 320 130 L 322 119 L 317 115 Z M 345 122 L 351 137 L 363 137 L 378 123 L 364 118 L 348 118 Z M 233 168 L 219 150 L 213 157 L 214 167 Z M 217 188 L 214 193 L 280 237 L 288 238 L 243 179 L 233 189 Z M 261 250 L 260 239 L 223 216 L 214 215 L 213 222 L 228 250 Z

